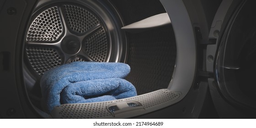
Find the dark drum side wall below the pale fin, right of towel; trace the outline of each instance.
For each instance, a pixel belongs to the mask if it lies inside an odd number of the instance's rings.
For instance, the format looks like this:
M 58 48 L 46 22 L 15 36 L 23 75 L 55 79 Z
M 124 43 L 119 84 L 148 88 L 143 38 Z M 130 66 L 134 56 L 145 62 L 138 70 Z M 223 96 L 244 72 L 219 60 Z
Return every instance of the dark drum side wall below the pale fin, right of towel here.
M 131 72 L 127 80 L 136 86 L 138 94 L 167 88 L 176 62 L 176 43 L 172 29 L 128 34 L 127 64 Z

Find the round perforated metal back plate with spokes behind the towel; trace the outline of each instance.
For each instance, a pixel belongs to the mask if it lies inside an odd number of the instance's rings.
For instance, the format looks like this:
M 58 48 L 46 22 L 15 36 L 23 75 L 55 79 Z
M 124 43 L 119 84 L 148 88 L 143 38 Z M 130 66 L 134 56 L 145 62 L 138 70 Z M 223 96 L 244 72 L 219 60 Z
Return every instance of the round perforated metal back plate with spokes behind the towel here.
M 37 12 L 27 30 L 25 57 L 38 75 L 74 61 L 109 60 L 107 28 L 91 10 L 69 3 Z

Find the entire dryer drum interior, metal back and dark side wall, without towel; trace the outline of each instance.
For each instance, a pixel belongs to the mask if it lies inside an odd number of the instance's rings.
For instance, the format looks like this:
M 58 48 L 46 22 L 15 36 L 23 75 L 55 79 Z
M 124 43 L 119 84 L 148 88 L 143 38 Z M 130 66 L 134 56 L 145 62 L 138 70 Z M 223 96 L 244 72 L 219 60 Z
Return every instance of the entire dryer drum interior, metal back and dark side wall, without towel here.
M 167 89 L 176 64 L 172 25 L 139 33 L 121 30 L 165 12 L 159 0 L 52 0 L 37 5 L 24 47 L 24 80 L 33 105 L 42 110 L 43 73 L 75 61 L 127 63 L 131 72 L 126 80 L 138 95 Z

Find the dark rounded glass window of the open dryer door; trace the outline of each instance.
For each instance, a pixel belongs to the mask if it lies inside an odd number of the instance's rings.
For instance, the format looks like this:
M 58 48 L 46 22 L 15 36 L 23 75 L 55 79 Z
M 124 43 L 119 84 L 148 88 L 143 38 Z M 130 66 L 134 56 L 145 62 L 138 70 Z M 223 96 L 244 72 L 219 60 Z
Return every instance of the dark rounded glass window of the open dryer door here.
M 256 9 L 245 0 L 224 31 L 216 60 L 219 89 L 232 103 L 256 108 Z

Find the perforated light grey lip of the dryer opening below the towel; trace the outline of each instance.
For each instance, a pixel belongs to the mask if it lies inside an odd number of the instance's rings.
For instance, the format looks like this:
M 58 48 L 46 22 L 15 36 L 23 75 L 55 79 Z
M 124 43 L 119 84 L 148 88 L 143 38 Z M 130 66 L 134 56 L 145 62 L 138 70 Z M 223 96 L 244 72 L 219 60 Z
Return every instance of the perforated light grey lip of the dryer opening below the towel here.
M 180 96 L 180 92 L 161 89 L 115 101 L 63 104 L 55 107 L 51 116 L 53 118 L 128 118 L 170 106 L 178 101 Z M 129 105 L 130 103 L 133 105 Z M 112 106 L 117 106 L 119 110 L 111 111 Z

